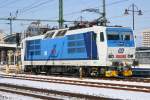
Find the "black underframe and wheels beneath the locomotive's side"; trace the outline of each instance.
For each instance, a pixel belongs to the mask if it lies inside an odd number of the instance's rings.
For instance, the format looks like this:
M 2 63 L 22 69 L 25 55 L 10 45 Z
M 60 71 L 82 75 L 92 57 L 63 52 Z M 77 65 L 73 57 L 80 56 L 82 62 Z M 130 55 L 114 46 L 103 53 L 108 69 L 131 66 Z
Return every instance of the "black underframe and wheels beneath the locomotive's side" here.
M 82 72 L 81 72 L 82 68 Z M 69 75 L 69 76 L 103 76 L 105 75 L 106 67 L 98 66 L 40 66 L 40 65 L 26 65 L 24 72 L 32 74 L 45 74 L 45 75 Z

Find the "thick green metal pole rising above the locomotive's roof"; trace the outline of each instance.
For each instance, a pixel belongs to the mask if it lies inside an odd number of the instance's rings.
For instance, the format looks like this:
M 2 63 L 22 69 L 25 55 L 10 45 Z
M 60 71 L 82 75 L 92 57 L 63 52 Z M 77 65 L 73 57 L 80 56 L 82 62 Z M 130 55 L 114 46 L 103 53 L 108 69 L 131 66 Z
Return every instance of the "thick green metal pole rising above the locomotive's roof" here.
M 59 0 L 59 28 L 63 28 L 63 0 Z

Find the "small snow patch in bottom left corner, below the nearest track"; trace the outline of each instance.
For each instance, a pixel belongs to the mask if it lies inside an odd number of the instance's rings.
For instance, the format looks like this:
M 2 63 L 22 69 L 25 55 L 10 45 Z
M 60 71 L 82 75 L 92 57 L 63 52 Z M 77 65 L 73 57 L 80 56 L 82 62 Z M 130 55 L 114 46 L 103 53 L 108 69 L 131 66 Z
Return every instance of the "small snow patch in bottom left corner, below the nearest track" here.
M 0 100 L 41 100 L 41 99 L 0 91 Z

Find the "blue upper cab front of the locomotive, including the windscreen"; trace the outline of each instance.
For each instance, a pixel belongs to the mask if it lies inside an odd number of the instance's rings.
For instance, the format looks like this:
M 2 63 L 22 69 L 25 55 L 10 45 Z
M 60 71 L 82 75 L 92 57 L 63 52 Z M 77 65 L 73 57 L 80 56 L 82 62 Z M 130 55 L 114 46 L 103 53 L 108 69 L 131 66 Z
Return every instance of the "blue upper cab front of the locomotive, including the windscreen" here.
M 107 44 L 109 47 L 133 47 L 134 35 L 128 28 L 107 28 Z

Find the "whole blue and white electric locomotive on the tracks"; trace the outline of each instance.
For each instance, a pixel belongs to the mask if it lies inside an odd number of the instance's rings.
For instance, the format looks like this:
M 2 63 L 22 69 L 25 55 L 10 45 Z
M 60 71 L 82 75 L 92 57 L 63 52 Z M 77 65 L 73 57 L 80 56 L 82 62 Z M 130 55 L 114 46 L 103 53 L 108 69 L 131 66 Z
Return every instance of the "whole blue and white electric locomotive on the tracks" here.
M 48 31 L 22 41 L 22 63 L 26 72 L 36 74 L 131 76 L 135 59 L 132 29 L 92 26 Z

